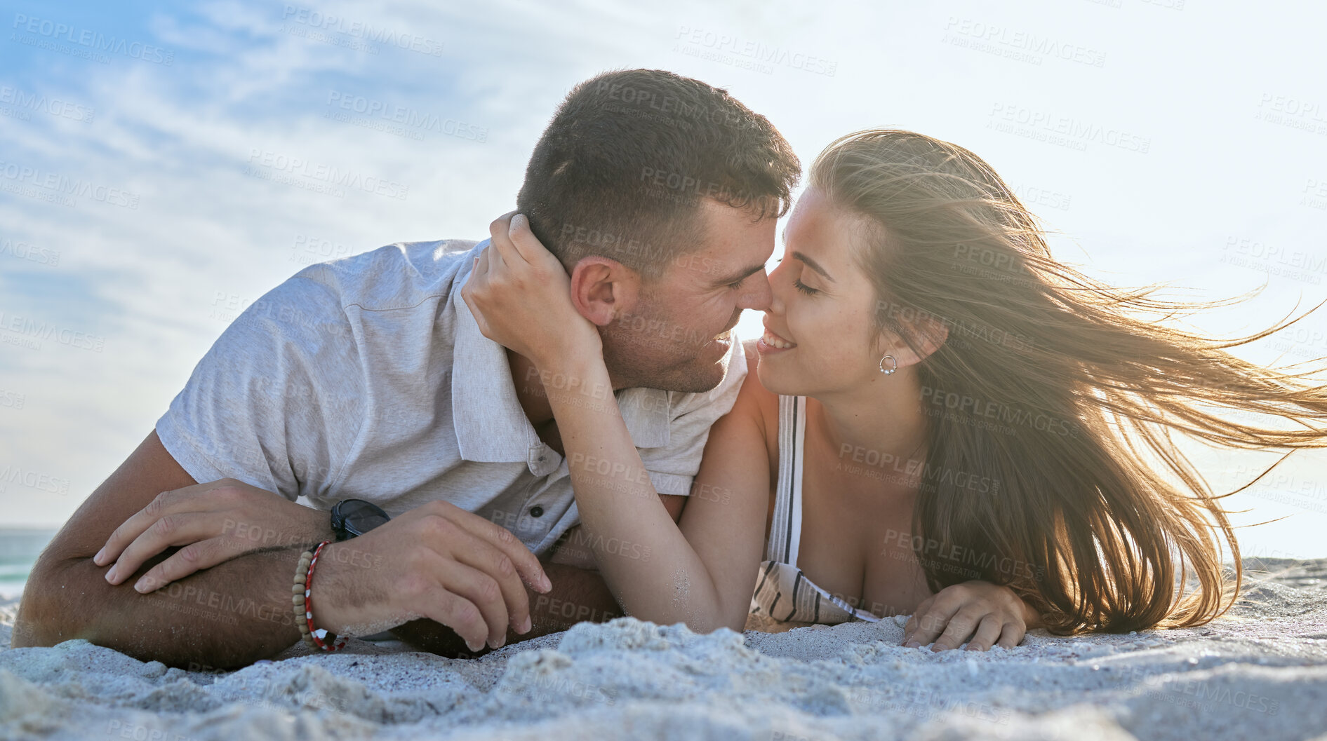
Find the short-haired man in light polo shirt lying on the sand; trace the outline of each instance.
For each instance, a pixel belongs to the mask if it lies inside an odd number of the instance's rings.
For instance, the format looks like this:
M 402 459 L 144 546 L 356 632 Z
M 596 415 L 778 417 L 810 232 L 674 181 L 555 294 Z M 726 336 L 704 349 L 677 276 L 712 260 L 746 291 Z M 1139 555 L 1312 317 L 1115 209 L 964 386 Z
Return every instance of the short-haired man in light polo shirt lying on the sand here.
M 763 117 L 658 70 L 577 85 L 531 156 L 518 208 L 598 325 L 674 520 L 746 374 L 727 330 L 767 305 L 799 171 Z M 42 553 L 15 646 L 276 655 L 301 640 L 292 579 L 324 541 L 309 600 L 333 634 L 454 655 L 614 616 L 601 546 L 567 547 L 579 514 L 547 396 L 568 380 L 484 338 L 462 300 L 486 244 L 311 265 L 249 306 Z

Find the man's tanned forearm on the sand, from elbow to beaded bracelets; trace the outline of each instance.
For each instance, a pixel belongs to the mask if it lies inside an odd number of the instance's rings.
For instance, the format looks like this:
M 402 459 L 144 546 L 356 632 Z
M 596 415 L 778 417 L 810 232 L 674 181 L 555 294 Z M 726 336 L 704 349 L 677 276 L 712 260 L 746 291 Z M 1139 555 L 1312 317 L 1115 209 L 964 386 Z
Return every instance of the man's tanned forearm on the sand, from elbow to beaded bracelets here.
M 151 594 L 133 583 L 175 549 L 111 586 L 92 558 L 38 561 L 15 626 L 13 647 L 86 639 L 145 661 L 232 668 L 300 640 L 291 602 L 303 546 L 249 553 Z

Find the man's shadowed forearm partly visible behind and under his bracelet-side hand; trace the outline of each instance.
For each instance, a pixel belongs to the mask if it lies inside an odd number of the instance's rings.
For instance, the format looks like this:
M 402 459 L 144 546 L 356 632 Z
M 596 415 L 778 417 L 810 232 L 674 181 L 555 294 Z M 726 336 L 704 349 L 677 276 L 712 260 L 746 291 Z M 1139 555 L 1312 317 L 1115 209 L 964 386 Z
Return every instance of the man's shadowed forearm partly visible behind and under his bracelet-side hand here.
M 527 634 L 507 628 L 508 644 L 564 631 L 584 620 L 604 623 L 622 616 L 622 608 L 597 571 L 547 561 L 543 566 L 553 589 L 548 594 L 539 594 L 525 587 L 532 627 Z M 415 648 L 442 656 L 474 659 L 490 651 L 487 647 L 478 652 L 470 651 L 455 631 L 434 620 L 411 620 L 391 632 Z

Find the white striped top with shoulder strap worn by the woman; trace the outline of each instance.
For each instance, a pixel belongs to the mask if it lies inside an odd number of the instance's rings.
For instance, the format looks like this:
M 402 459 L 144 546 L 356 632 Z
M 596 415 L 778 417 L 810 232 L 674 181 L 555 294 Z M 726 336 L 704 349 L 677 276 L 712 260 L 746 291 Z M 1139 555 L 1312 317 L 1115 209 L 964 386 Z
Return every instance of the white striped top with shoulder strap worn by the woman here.
M 841 597 L 820 589 L 798 569 L 805 411 L 805 396 L 779 396 L 779 483 L 764 561 L 760 562 L 751 597 L 751 615 L 780 623 L 878 622 L 880 618 L 869 611 L 857 610 Z

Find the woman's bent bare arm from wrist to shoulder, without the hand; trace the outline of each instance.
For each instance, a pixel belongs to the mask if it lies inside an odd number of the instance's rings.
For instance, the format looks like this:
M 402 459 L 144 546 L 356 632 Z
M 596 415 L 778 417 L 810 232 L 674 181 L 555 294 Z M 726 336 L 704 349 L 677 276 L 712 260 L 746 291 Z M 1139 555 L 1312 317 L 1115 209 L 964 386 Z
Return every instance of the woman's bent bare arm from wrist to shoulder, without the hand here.
M 541 367 L 543 369 L 543 367 Z M 608 383 L 601 358 L 549 369 Z M 656 623 L 740 631 L 751 603 L 768 506 L 763 432 L 739 394 L 710 429 L 701 472 L 674 525 L 658 500 L 612 394 L 600 404 L 549 395 L 561 429 L 585 542 L 622 608 Z M 740 404 L 740 406 L 739 406 Z

